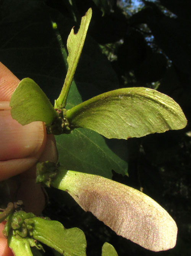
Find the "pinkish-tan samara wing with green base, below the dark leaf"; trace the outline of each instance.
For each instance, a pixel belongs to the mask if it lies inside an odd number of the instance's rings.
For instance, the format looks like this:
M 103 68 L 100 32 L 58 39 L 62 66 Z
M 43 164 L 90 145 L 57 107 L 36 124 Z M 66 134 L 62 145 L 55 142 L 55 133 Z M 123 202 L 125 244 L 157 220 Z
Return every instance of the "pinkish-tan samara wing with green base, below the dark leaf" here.
M 84 211 L 91 211 L 117 235 L 146 249 L 163 251 L 176 244 L 175 221 L 156 201 L 134 188 L 62 167 L 51 185 L 67 191 Z

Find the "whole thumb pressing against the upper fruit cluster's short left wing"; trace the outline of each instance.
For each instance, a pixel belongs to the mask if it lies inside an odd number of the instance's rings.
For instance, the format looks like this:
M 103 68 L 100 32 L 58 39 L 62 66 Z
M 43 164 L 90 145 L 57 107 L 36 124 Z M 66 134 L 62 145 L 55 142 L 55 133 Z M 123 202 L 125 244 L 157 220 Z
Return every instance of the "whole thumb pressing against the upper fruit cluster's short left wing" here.
M 9 102 L 0 102 L 0 180 L 15 176 L 34 165 L 46 143 L 42 122 L 22 126 L 13 120 Z

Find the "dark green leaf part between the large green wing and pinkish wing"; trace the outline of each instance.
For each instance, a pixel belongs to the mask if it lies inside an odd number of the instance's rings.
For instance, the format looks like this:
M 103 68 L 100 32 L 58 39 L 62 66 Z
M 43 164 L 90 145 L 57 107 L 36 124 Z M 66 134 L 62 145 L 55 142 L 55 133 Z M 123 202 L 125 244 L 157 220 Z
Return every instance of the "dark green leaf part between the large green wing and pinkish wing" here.
M 61 165 L 66 169 L 112 178 L 112 170 L 127 174 L 128 149 L 121 141 L 108 141 L 89 129 L 55 136 Z M 121 143 L 120 143 L 121 142 Z M 108 146 L 109 145 L 109 146 Z M 121 152 L 120 156 L 117 154 Z M 124 155 L 124 160 L 121 157 Z M 126 158 L 125 158 L 126 157 Z

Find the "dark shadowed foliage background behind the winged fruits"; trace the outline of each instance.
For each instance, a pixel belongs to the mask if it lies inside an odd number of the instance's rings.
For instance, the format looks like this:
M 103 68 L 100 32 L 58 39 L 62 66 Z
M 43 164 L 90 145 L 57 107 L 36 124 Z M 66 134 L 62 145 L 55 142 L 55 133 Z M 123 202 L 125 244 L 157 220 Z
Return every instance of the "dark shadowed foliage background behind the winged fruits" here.
M 112 89 L 145 86 L 175 99 L 188 119 L 183 130 L 129 139 L 129 177 L 113 172 L 114 180 L 142 190 L 170 213 L 178 226 L 177 244 L 158 253 L 141 248 L 54 189 L 47 190 L 44 215 L 66 228 L 81 228 L 89 256 L 100 255 L 105 241 L 119 256 L 191 255 L 191 2 L 1 0 L 0 61 L 19 79 L 34 79 L 53 101 L 66 68 L 51 21 L 57 22 L 66 45 L 71 27 L 78 28 L 89 7 L 91 25 L 75 76 L 83 100 Z

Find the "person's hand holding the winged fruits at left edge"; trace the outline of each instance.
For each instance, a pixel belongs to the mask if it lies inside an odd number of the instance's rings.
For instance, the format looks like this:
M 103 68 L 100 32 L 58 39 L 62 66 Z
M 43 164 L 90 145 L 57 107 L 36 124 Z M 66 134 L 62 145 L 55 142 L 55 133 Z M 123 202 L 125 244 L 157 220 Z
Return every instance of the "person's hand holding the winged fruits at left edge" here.
M 57 162 L 53 135 L 47 135 L 43 122 L 21 126 L 10 114 L 9 101 L 19 79 L 0 63 L 0 180 L 15 179 L 16 200 L 22 200 L 24 210 L 39 215 L 45 206 L 44 192 L 35 182 L 36 162 Z M 12 256 L 2 235 L 0 224 L 0 256 Z

